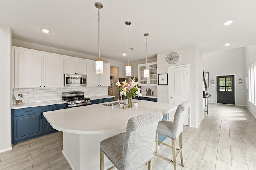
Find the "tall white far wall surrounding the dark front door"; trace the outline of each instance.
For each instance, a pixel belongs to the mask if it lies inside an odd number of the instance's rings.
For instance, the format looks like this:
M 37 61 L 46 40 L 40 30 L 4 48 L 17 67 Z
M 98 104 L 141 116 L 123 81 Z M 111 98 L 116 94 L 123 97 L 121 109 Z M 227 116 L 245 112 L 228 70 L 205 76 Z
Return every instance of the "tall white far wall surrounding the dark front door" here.
M 209 80 L 207 88 L 208 93 L 212 95 L 213 103 L 216 103 L 216 76 L 233 74 L 235 75 L 235 104 L 245 106 L 244 66 L 244 47 L 203 54 L 204 72 L 209 72 L 210 80 L 214 78 L 214 84 Z M 239 77 L 242 78 L 242 84 L 238 83 Z

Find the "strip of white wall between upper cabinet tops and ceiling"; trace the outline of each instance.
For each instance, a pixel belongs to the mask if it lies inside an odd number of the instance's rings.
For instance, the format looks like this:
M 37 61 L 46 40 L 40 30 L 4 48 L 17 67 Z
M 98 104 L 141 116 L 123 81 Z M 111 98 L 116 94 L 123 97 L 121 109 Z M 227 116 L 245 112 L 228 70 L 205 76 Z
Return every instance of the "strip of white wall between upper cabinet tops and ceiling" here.
M 34 43 L 29 43 L 26 41 L 20 41 L 17 39 L 12 39 L 12 45 L 17 46 L 17 47 L 24 47 L 24 48 L 28 48 L 28 49 L 46 51 L 46 52 L 50 52 L 50 53 L 79 57 L 79 58 L 89 59 L 89 60 L 97 60 L 98 59 L 98 57 L 92 56 L 92 55 L 86 55 L 86 54 L 82 54 L 82 53 L 76 53 L 74 51 L 68 51 L 68 50 L 64 50 L 64 49 L 57 49 L 54 47 L 38 45 L 38 44 L 34 44 Z M 111 59 L 104 59 L 101 57 L 100 57 L 100 59 L 103 62 L 110 63 L 110 66 L 119 67 L 120 68 L 119 69 L 119 77 L 125 76 L 125 66 L 127 65 L 127 63 L 115 61 L 115 60 L 111 60 Z

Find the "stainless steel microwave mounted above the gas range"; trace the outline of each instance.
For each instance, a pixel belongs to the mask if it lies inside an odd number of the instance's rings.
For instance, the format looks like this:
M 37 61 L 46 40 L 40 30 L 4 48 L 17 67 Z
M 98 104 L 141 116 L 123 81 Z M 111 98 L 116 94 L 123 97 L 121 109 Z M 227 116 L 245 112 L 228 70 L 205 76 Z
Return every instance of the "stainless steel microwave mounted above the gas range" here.
M 65 74 L 65 86 L 86 86 L 87 76 L 81 74 Z

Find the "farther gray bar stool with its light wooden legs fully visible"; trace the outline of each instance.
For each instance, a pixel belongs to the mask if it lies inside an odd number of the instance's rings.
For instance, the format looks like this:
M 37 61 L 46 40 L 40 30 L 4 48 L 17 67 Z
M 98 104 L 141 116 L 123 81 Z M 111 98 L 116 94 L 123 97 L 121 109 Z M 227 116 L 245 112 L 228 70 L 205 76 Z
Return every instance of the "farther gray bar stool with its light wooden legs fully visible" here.
M 181 159 L 181 165 L 184 166 L 183 155 L 182 155 L 182 131 L 183 131 L 184 116 L 189 106 L 190 106 L 189 102 L 183 102 L 182 104 L 180 104 L 175 112 L 173 122 L 162 120 L 158 123 L 157 129 L 156 129 L 156 150 L 154 155 L 172 163 L 174 165 L 174 170 L 177 169 L 176 160 L 179 154 Z M 172 146 L 164 142 L 158 141 L 158 133 L 171 138 Z M 176 139 L 178 139 L 178 137 L 179 137 L 179 144 L 180 144 L 179 149 L 176 148 Z M 170 160 L 166 156 L 163 156 L 157 153 L 158 143 L 172 148 L 173 160 Z M 177 153 L 176 153 L 176 150 L 178 151 Z

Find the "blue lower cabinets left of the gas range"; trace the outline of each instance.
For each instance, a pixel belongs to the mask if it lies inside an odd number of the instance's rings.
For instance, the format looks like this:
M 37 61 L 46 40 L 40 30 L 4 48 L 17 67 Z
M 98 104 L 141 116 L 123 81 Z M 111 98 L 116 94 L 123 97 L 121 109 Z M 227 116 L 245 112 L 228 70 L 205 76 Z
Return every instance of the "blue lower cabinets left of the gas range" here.
M 12 144 L 56 131 L 43 112 L 66 109 L 66 104 L 12 110 Z

